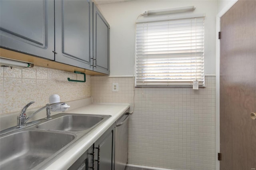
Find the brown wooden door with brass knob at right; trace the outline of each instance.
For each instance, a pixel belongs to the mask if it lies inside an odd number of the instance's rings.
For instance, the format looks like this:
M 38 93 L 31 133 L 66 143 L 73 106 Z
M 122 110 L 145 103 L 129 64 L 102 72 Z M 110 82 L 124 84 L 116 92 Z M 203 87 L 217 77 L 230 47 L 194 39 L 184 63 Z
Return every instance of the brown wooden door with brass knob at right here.
M 256 1 L 221 17 L 220 170 L 256 169 Z

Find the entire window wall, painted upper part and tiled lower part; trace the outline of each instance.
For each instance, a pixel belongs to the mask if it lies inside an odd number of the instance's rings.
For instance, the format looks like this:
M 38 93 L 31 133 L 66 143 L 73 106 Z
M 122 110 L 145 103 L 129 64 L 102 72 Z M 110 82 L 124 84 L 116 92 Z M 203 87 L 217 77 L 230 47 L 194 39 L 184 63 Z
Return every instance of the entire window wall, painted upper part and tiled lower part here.
M 140 14 L 193 5 L 196 6 L 193 13 L 206 14 L 205 73 L 215 74 L 217 4 L 217 0 L 134 0 L 100 4 L 98 7 L 110 24 L 110 75 L 134 73 L 135 22 Z M 112 83 L 119 83 L 119 92 L 112 92 Z M 129 120 L 129 164 L 215 170 L 214 76 L 206 76 L 206 88 L 199 91 L 134 88 L 132 77 L 92 77 L 92 98 L 96 103 L 131 104 L 134 114 Z M 158 134 L 160 136 L 154 136 Z

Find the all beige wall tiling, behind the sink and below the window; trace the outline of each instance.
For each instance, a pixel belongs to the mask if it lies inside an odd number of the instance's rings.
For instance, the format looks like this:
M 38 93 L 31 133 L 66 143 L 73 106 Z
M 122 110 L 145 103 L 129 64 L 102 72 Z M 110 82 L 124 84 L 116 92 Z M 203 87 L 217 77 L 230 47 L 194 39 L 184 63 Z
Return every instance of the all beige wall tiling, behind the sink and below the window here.
M 94 103 L 129 103 L 128 164 L 175 170 L 215 170 L 215 76 L 205 88 L 135 88 L 133 77 L 83 76 L 56 69 L 0 67 L 0 114 L 92 96 Z M 112 83 L 119 91 L 112 92 Z

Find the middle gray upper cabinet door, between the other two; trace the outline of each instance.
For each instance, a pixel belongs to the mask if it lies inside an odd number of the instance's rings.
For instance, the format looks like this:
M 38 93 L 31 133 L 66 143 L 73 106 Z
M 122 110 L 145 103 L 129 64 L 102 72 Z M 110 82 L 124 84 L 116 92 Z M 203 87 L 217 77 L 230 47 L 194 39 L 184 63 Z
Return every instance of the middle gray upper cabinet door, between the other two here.
M 91 1 L 55 1 L 55 61 L 92 70 L 91 13 Z

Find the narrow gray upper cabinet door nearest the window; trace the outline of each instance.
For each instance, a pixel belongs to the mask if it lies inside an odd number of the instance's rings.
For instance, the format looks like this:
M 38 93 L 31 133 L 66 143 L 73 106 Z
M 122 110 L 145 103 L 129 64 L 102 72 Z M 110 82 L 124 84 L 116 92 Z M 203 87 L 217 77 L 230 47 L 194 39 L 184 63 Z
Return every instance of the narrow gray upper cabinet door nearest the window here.
M 109 74 L 109 25 L 93 5 L 93 71 Z

